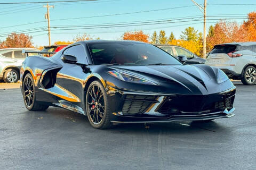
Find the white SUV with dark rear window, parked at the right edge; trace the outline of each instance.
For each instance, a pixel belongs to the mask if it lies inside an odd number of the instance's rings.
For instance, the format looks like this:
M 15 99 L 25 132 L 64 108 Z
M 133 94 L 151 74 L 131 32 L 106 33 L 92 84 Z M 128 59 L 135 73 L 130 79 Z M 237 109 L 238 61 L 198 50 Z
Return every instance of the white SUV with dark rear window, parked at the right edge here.
M 256 42 L 215 45 L 205 64 L 217 67 L 243 84 L 256 83 Z

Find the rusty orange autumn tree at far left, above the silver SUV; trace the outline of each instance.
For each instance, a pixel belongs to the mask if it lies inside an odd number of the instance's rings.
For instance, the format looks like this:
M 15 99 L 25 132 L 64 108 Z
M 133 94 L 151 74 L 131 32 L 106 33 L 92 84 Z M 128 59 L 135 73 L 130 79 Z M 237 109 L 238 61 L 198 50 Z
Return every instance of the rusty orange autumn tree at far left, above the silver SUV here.
M 7 36 L 5 41 L 0 42 L 0 48 L 33 48 L 32 36 L 15 32 Z

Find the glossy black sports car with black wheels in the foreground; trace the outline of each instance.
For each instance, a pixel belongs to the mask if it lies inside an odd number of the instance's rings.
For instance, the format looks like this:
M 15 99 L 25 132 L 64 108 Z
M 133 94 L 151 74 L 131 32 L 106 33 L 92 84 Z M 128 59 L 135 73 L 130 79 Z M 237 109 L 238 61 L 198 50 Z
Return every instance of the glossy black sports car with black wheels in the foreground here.
M 50 58 L 29 56 L 20 75 L 28 110 L 66 108 L 87 115 L 99 129 L 113 122 L 234 116 L 236 89 L 225 73 L 203 64 L 183 65 L 164 50 L 136 41 L 81 41 Z

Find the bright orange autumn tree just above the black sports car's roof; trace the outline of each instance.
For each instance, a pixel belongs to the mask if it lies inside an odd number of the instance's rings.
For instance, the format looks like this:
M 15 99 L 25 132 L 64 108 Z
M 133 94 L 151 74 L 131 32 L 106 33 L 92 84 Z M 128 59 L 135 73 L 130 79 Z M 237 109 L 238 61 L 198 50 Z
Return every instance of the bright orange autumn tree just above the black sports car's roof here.
M 145 43 L 149 43 L 149 35 L 143 33 L 142 30 L 124 32 L 122 39 L 123 40 L 133 40 L 133 41 L 142 41 Z

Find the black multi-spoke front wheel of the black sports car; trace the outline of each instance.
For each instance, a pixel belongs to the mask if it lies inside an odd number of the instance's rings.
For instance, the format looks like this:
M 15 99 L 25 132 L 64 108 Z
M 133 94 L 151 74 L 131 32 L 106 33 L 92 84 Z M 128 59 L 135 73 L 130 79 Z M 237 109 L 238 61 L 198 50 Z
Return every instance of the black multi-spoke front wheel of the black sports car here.
M 86 92 L 85 108 L 93 128 L 108 129 L 112 126 L 105 88 L 100 81 L 93 81 Z

